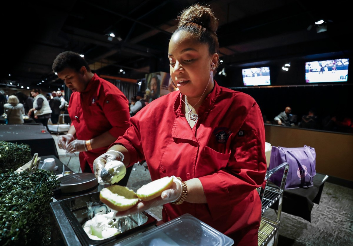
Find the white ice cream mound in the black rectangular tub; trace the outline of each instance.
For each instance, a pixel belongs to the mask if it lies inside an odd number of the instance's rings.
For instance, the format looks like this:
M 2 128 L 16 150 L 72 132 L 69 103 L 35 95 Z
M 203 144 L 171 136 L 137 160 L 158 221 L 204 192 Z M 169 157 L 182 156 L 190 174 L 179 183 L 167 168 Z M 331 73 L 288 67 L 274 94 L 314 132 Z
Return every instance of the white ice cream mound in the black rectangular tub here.
M 114 211 L 108 214 L 96 214 L 82 227 L 89 238 L 93 240 L 103 240 L 121 233 L 118 221 L 114 221 Z

